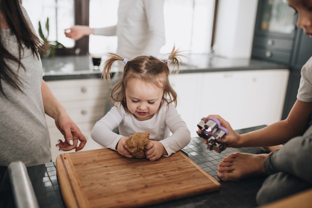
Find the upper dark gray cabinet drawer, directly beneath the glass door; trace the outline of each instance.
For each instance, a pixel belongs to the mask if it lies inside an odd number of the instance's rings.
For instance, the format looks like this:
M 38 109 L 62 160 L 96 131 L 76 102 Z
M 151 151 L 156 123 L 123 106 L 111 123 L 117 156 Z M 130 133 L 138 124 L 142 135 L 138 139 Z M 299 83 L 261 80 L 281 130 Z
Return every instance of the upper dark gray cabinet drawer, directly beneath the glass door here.
M 277 50 L 283 52 L 291 52 L 293 40 L 255 37 L 253 42 L 254 48 L 263 48 L 266 50 Z

